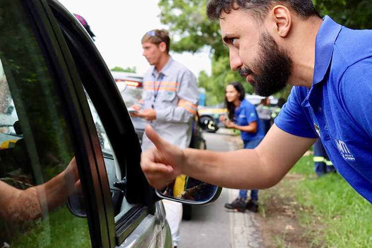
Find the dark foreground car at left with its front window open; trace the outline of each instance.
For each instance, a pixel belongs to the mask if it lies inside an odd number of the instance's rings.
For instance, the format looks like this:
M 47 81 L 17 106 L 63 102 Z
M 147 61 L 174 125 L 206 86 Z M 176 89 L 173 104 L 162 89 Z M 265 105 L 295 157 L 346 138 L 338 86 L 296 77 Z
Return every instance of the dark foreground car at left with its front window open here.
M 221 188 L 190 201 L 148 184 L 114 78 L 59 1 L 0 10 L 0 246 L 171 248 L 160 199 L 204 204 Z

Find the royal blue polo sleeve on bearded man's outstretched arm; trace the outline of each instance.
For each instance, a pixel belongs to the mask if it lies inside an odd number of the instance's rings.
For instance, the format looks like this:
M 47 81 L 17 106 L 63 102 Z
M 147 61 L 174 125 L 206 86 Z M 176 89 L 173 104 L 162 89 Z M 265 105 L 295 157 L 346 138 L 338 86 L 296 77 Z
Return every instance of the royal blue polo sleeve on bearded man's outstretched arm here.
M 309 117 L 302 106 L 302 99 L 305 99 L 306 96 L 304 92 L 304 87 L 292 87 L 288 101 L 283 105 L 278 117 L 275 118 L 274 123 L 283 131 L 293 135 L 316 138 Z

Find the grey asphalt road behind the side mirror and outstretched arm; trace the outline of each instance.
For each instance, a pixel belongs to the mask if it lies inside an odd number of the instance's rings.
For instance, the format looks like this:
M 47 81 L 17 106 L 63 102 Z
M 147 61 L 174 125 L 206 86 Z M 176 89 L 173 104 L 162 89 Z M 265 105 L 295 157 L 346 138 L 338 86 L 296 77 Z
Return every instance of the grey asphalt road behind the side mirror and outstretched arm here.
M 228 129 L 216 133 L 204 132 L 208 150 L 229 151 L 237 147 L 236 139 Z M 192 206 L 191 220 L 183 220 L 178 248 L 229 248 L 231 247 L 230 213 L 224 208 L 229 201 L 229 190 L 223 188 L 220 197 L 208 205 Z

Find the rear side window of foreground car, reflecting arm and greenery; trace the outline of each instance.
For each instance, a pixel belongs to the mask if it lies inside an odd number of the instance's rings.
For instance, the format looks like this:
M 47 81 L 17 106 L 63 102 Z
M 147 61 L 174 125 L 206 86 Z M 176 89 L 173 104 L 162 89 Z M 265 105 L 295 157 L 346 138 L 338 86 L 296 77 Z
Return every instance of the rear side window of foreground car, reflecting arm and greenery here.
M 65 204 L 79 176 L 56 75 L 23 9 L 0 1 L 0 247 L 90 247 Z

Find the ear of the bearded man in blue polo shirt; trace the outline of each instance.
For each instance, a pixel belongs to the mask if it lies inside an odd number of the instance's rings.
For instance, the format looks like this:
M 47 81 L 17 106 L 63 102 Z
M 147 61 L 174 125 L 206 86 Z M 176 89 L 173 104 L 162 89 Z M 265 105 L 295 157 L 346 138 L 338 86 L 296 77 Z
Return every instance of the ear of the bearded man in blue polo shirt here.
M 286 37 L 292 27 L 291 12 L 283 5 L 276 5 L 271 11 L 276 23 L 276 32 L 279 36 Z

